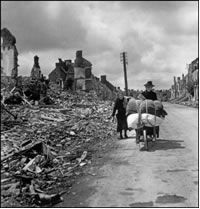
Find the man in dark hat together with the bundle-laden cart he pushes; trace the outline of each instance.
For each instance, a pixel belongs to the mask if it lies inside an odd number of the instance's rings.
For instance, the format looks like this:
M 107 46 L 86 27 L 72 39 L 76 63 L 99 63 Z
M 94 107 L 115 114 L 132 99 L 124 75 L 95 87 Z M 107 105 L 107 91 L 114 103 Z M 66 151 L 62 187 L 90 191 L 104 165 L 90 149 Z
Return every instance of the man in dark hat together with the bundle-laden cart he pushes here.
M 135 129 L 136 143 L 144 143 L 148 150 L 148 143 L 155 142 L 159 137 L 159 126 L 163 122 L 166 111 L 152 91 L 152 81 L 145 84 L 146 91 L 139 95 L 140 100 L 132 98 L 127 105 L 127 123 L 129 130 Z

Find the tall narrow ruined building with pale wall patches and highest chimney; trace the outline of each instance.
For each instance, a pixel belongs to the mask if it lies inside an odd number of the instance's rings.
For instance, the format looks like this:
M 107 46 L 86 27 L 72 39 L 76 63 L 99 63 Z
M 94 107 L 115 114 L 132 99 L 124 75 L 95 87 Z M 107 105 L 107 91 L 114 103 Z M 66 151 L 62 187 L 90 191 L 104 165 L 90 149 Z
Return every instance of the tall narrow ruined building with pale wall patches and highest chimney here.
M 92 64 L 82 56 L 82 51 L 76 52 L 74 61 L 75 89 L 90 91 L 92 86 Z

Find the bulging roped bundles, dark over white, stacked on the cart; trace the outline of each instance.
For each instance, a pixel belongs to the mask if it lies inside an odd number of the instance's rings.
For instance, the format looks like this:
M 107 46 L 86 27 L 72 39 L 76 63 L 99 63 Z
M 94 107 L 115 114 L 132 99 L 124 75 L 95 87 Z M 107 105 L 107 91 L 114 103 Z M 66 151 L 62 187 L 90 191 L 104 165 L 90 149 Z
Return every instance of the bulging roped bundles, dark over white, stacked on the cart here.
M 160 126 L 167 115 L 160 101 L 131 99 L 127 105 L 129 130 L 136 129 L 138 122 L 146 127 Z

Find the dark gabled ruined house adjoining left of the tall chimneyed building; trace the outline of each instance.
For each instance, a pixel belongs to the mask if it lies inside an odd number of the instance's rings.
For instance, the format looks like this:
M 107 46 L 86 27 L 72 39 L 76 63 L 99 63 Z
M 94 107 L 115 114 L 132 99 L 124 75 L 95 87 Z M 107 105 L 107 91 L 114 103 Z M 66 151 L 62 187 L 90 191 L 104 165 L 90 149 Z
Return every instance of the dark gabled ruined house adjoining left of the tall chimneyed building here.
M 74 89 L 74 63 L 71 60 L 58 59 L 55 69 L 49 74 L 49 80 L 62 89 Z

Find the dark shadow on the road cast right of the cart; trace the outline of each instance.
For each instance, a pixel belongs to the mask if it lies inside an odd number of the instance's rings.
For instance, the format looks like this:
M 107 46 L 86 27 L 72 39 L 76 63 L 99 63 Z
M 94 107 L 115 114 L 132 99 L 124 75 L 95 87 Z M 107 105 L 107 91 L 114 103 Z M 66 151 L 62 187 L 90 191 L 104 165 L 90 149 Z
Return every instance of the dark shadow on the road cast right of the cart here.
M 149 151 L 156 150 L 169 150 L 169 149 L 184 149 L 185 147 L 181 145 L 182 140 L 166 140 L 166 139 L 157 139 L 155 144 L 151 146 Z

